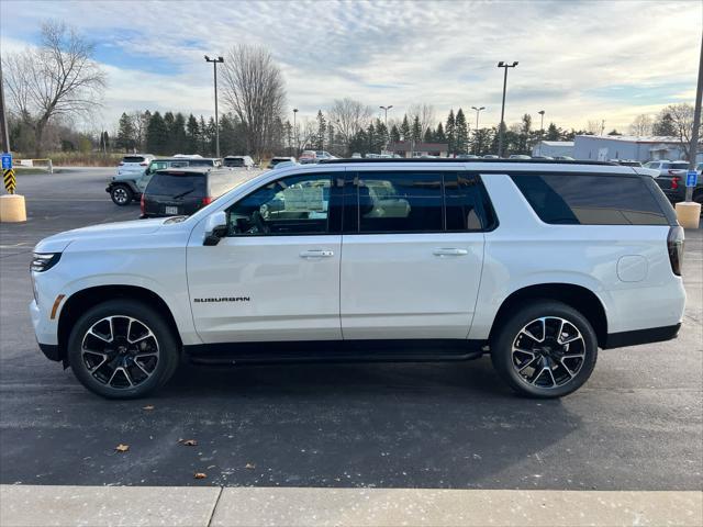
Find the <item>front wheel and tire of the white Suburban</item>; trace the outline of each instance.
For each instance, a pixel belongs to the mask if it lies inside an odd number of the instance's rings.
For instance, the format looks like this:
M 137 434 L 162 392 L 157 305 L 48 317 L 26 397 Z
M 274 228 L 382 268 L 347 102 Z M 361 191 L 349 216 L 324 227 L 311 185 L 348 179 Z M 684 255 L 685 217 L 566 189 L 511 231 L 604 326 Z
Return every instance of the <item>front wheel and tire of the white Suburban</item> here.
M 138 399 L 171 378 L 179 348 L 171 328 L 152 307 L 111 300 L 78 319 L 67 357 L 76 378 L 91 392 L 107 399 Z

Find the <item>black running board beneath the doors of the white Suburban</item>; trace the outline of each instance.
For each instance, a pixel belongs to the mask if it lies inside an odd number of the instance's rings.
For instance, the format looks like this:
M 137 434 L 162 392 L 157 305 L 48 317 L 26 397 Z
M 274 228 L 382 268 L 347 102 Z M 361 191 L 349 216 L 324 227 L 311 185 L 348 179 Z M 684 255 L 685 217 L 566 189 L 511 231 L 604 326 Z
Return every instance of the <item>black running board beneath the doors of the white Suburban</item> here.
M 446 362 L 478 359 L 479 340 L 315 340 L 185 346 L 196 365 L 295 362 Z

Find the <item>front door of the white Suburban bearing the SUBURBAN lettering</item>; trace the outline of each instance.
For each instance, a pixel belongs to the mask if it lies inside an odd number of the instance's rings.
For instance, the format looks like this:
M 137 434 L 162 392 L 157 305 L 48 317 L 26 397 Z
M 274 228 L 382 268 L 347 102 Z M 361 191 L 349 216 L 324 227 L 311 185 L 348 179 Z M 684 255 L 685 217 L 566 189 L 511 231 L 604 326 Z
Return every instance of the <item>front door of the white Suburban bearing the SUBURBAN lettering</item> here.
M 331 190 L 331 173 L 266 183 L 230 206 L 216 246 L 191 243 L 188 287 L 205 344 L 342 337 Z

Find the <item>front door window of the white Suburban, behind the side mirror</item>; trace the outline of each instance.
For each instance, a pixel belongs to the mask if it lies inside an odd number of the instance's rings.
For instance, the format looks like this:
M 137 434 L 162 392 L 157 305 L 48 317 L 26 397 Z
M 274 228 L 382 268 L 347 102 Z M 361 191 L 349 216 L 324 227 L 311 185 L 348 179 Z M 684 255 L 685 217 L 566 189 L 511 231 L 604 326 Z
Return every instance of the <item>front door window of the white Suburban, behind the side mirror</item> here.
M 325 234 L 328 175 L 283 178 L 246 195 L 228 210 L 230 236 Z

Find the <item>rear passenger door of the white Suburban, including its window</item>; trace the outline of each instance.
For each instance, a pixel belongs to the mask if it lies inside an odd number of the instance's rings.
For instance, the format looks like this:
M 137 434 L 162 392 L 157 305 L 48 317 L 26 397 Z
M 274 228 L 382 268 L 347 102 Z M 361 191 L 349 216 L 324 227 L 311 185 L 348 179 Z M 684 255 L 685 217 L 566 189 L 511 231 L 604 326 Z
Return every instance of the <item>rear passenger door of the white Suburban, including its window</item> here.
M 483 264 L 480 183 L 451 170 L 358 170 L 344 192 L 345 339 L 466 338 Z

